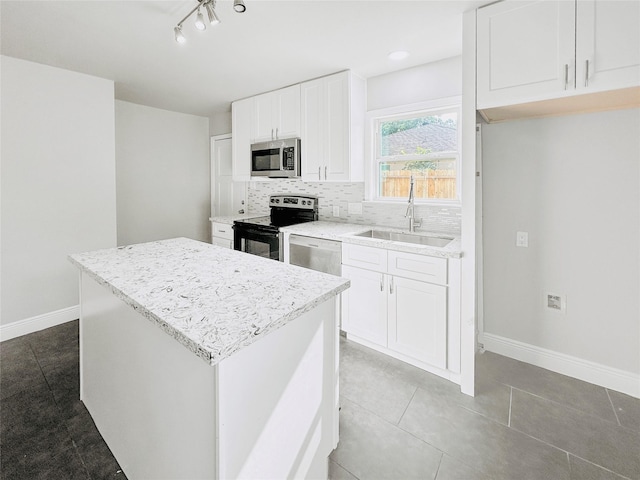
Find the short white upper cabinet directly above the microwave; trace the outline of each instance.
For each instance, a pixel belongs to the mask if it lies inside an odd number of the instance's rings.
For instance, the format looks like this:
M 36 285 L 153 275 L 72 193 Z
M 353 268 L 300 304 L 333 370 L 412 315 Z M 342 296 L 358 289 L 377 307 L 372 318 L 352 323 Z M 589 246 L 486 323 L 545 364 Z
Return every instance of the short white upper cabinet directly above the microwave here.
M 300 85 L 253 97 L 253 141 L 300 136 Z

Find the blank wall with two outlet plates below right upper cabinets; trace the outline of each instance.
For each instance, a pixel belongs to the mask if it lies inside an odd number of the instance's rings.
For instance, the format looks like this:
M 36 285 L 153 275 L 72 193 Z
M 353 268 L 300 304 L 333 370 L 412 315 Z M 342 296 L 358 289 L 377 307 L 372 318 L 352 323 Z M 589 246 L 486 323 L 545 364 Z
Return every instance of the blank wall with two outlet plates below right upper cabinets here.
M 638 132 L 638 109 L 484 126 L 487 334 L 640 373 Z

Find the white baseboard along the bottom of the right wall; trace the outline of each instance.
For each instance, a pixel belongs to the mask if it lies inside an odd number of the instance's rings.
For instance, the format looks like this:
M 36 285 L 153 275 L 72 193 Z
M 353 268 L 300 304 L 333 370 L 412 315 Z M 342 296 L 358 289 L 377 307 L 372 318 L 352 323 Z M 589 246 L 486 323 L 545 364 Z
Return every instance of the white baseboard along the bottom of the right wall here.
M 640 375 L 637 373 L 619 370 L 490 333 L 484 333 L 479 336 L 478 340 L 484 344 L 484 349 L 490 352 L 640 398 Z

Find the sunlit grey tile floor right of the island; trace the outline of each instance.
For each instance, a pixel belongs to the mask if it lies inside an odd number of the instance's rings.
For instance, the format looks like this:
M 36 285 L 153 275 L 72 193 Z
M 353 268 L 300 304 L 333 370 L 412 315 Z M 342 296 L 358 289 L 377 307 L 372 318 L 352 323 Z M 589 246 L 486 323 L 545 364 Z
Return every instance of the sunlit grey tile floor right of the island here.
M 640 479 L 640 400 L 493 353 L 476 397 L 342 340 L 338 479 Z

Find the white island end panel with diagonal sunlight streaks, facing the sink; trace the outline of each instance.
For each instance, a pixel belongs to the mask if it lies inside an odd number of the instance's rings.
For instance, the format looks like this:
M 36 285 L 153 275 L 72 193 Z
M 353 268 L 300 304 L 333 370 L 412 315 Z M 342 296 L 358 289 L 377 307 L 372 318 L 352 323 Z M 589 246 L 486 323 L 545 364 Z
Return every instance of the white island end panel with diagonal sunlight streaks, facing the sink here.
M 337 441 L 335 305 L 220 363 L 220 478 L 327 478 Z

